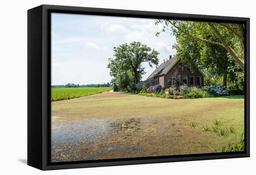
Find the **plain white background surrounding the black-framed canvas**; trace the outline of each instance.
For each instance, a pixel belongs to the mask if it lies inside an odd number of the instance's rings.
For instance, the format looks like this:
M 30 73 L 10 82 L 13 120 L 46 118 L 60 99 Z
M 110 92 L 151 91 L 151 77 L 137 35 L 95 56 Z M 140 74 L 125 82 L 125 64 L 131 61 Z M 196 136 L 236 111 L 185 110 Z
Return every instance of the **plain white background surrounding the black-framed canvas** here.
M 49 175 L 238 175 L 256 172 L 255 89 L 251 66 L 251 157 L 90 169 L 40 171 L 27 159 L 27 9 L 41 4 L 194 13 L 251 18 L 250 56 L 256 65 L 256 9 L 253 0 L 2 0 L 0 7 L 0 174 Z M 254 87 L 254 88 L 252 88 Z M 253 127 L 254 126 L 254 127 Z M 253 163 L 254 161 L 254 163 Z

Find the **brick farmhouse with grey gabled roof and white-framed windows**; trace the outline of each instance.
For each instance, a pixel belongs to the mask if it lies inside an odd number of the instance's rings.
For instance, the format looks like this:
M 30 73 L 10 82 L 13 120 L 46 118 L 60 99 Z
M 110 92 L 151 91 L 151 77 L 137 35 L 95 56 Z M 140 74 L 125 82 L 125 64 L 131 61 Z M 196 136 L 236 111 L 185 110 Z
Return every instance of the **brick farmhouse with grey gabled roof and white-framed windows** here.
M 143 84 L 147 87 L 160 84 L 164 88 L 170 88 L 174 86 L 175 78 L 180 85 L 201 87 L 204 74 L 199 69 L 191 71 L 190 64 L 182 63 L 175 56 L 169 56 L 167 61 L 157 67 L 147 80 L 138 83 L 136 88 L 140 89 Z

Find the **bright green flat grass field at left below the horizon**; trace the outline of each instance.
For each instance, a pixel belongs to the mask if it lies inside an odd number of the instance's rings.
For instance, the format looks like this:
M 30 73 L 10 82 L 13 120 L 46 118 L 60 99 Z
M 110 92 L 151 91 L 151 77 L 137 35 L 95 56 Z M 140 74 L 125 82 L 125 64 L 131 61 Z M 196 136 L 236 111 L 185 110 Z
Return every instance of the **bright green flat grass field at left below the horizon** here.
M 51 101 L 68 100 L 83 96 L 99 94 L 111 90 L 108 88 L 52 88 Z

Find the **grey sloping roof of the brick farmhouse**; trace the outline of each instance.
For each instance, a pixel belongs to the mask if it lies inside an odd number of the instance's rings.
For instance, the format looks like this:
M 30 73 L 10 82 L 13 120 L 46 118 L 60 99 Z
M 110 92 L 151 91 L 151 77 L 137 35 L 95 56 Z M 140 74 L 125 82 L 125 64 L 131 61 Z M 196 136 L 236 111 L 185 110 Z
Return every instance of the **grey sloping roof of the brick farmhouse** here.
M 153 72 L 151 75 L 149 75 L 149 77 L 148 77 L 147 79 L 151 79 L 151 78 L 153 78 L 153 77 L 155 77 L 155 76 L 167 74 L 167 73 L 170 71 L 170 69 L 172 69 L 173 66 L 174 66 L 178 61 L 179 61 L 179 60 L 178 60 L 175 56 L 173 56 L 173 57 L 172 57 L 171 59 L 169 59 L 168 61 L 166 61 L 166 62 L 160 64 L 160 66 L 158 66 L 158 67 L 154 70 L 154 72 Z M 202 75 L 204 75 L 203 72 L 202 72 L 202 70 L 200 70 L 200 69 L 198 69 L 198 70 L 199 70 L 199 72 L 200 72 Z

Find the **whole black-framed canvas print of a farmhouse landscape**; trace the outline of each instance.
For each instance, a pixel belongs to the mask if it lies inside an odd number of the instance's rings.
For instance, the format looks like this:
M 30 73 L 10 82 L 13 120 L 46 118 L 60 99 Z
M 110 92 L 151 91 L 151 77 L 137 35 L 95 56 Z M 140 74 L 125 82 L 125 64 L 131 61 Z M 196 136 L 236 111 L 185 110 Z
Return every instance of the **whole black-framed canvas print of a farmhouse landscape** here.
M 249 18 L 28 10 L 28 165 L 249 156 Z

